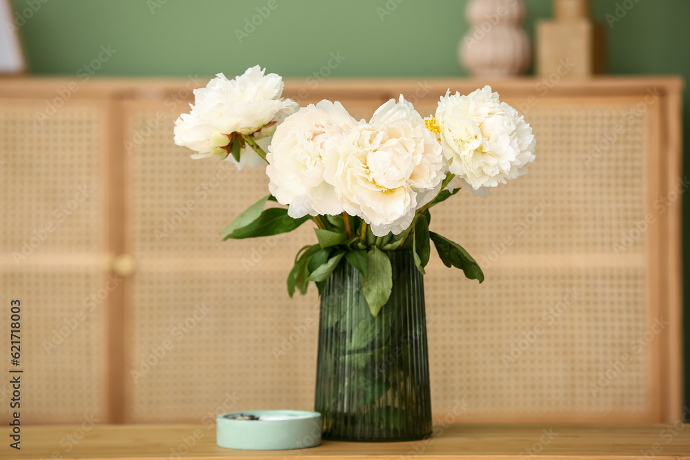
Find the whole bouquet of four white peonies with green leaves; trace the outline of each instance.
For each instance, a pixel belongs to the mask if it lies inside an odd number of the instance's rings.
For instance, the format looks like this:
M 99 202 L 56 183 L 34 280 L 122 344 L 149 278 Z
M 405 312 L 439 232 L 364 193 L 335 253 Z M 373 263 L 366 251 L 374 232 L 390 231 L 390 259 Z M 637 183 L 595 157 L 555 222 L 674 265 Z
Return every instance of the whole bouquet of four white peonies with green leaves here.
M 350 263 L 373 316 L 391 294 L 386 251 L 411 250 L 424 274 L 433 241 L 446 266 L 484 280 L 462 246 L 429 230 L 429 208 L 461 185 L 486 197 L 527 172 L 535 139 L 514 108 L 485 86 L 467 95 L 449 90 L 426 119 L 401 96 L 357 121 L 337 101 L 300 108 L 282 91 L 282 78 L 259 66 L 233 80 L 218 74 L 194 91 L 190 113 L 175 123 L 175 143 L 197 152 L 193 158 L 217 156 L 240 170 L 268 164 L 270 194 L 239 214 L 225 239 L 313 221 L 318 243 L 297 254 L 290 296 L 306 293 L 311 281 L 321 292 L 338 264 Z M 266 201 L 287 209 L 264 209 Z

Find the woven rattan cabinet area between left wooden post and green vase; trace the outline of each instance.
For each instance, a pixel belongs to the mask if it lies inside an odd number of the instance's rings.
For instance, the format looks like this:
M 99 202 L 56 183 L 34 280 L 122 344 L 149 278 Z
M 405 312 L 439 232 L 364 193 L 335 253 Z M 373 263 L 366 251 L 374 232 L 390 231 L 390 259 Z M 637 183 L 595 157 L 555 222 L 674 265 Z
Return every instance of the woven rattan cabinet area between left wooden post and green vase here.
M 177 102 L 177 104 L 175 104 Z M 268 194 L 265 168 L 192 160 L 172 128 L 188 101 L 123 104 L 128 279 L 125 421 L 207 423 L 233 408 L 313 408 L 318 301 L 288 297 L 309 223 L 221 241 Z

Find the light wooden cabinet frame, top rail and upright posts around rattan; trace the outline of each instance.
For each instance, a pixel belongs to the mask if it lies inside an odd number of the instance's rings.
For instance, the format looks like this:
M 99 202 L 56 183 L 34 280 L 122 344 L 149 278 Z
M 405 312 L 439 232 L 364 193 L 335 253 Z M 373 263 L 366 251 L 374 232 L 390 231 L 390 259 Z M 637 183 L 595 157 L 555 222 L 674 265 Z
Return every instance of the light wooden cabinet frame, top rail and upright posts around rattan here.
M 70 79 L 6 77 L 0 79 L 0 101 L 16 98 L 48 99 L 57 90 L 68 88 L 75 83 Z M 511 101 L 529 118 L 531 108 L 546 101 L 568 98 L 573 103 L 601 98 L 640 98 L 656 94 L 658 99 L 650 104 L 654 112 L 650 117 L 649 143 L 649 194 L 648 206 L 669 193 L 682 177 L 682 81 L 676 77 L 602 77 L 589 80 L 564 80 L 547 83 L 539 79 L 515 80 L 460 80 L 460 79 L 366 79 L 366 80 L 328 80 L 316 88 L 306 85 L 306 81 L 286 81 L 284 94 L 293 97 L 302 105 L 315 103 L 320 99 L 340 99 L 350 101 L 361 108 L 373 108 L 387 99 L 402 93 L 413 101 L 420 112 L 433 110 L 437 96 L 444 94 L 446 88 L 463 94 L 481 88 L 485 84 L 500 92 L 502 99 Z M 115 270 L 117 257 L 126 254 L 127 203 L 126 194 L 121 193 L 126 180 L 127 153 L 124 150 L 126 127 L 124 126 L 124 106 L 131 101 L 175 101 L 189 95 L 189 82 L 179 79 L 94 79 L 79 86 L 71 99 L 99 100 L 108 104 L 110 127 L 108 142 L 107 170 L 103 171 L 103 182 L 111 192 L 108 194 L 106 208 L 109 219 L 104 257 L 110 258 L 110 265 L 104 273 Z M 183 90 L 184 92 L 183 94 Z M 70 103 L 70 101 L 66 101 Z M 1 104 L 1 102 L 0 102 Z M 347 105 L 346 105 L 347 107 Z M 364 110 L 364 109 L 363 109 Z M 364 116 L 364 115 L 363 115 Z M 172 142 L 172 132 L 170 133 Z M 658 401 L 653 420 L 671 422 L 678 419 L 683 406 L 683 363 L 682 363 L 682 254 L 681 254 L 681 199 L 680 194 L 671 201 L 667 209 L 659 215 L 658 226 L 650 233 L 649 248 L 650 302 L 658 306 L 657 314 L 668 318 L 669 330 L 653 344 L 653 356 L 658 361 L 649 369 L 653 379 L 658 380 Z M 113 265 L 115 261 L 115 265 Z M 126 333 L 125 305 L 126 289 L 117 290 L 108 298 L 108 421 L 121 423 L 126 417 L 126 390 L 124 379 L 128 359 L 126 350 L 121 348 L 120 337 Z M 605 417 L 604 417 L 605 419 Z

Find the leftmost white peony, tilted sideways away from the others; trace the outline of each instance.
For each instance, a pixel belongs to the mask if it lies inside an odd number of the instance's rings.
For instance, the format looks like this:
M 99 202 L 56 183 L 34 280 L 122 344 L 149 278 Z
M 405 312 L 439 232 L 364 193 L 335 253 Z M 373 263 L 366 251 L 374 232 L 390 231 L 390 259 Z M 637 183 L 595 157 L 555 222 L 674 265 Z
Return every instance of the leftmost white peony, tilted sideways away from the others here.
M 238 169 L 264 164 L 237 134 L 267 139 L 259 144 L 266 146 L 275 126 L 299 108 L 295 101 L 282 98 L 282 78 L 264 72 L 255 66 L 233 80 L 217 74 L 206 88 L 194 90 L 191 112 L 175 121 L 175 143 L 198 152 L 192 155 L 194 159 L 219 155 Z M 230 154 L 230 144 L 238 138 L 242 144 L 239 162 Z

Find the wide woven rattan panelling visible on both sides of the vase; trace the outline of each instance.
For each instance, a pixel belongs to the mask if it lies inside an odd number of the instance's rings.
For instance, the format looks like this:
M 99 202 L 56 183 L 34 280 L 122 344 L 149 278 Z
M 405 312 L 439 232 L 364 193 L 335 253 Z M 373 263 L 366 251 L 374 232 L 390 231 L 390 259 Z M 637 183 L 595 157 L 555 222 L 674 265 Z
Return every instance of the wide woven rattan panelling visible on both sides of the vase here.
M 649 234 L 613 250 L 646 212 L 648 115 L 629 121 L 632 102 L 611 101 L 532 108 L 539 143 L 529 175 L 487 200 L 461 192 L 433 214 L 432 230 L 460 241 L 486 272 L 478 286 L 435 261 L 425 277 L 436 417 L 460 401 L 466 419 L 651 417 L 655 345 L 631 346 L 654 315 Z M 190 160 L 172 144 L 177 112 L 161 103 L 131 103 L 125 114 L 128 246 L 138 266 L 126 421 L 312 408 L 317 299 L 290 300 L 284 283 L 311 230 L 221 243 L 217 232 L 266 194 L 264 172 Z M 622 120 L 624 132 L 588 161 L 593 142 Z M 535 326 L 542 332 L 524 346 Z M 626 352 L 632 361 L 600 385 Z

